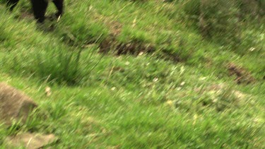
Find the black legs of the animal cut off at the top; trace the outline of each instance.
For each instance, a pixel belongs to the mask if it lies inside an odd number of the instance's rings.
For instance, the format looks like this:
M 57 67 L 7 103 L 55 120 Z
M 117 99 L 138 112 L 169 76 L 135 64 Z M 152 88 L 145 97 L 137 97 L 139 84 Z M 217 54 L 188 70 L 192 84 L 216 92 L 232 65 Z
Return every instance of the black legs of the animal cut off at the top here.
M 19 0 L 7 0 L 7 6 L 13 11 L 13 8 L 18 4 Z M 34 17 L 37 23 L 43 23 L 45 20 L 45 12 L 48 6 L 49 0 L 30 0 L 33 6 Z M 57 8 L 57 13 L 55 14 L 59 18 L 63 13 L 64 0 L 52 0 Z

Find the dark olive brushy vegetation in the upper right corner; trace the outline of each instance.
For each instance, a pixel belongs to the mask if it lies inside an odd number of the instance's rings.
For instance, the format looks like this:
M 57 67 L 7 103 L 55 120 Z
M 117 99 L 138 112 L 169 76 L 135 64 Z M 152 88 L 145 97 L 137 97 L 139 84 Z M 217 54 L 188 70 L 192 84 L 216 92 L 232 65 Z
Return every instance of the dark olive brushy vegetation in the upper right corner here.
M 201 35 L 232 49 L 239 49 L 245 42 L 242 30 L 246 23 L 254 18 L 262 21 L 264 15 L 262 1 L 188 0 L 181 5 Z

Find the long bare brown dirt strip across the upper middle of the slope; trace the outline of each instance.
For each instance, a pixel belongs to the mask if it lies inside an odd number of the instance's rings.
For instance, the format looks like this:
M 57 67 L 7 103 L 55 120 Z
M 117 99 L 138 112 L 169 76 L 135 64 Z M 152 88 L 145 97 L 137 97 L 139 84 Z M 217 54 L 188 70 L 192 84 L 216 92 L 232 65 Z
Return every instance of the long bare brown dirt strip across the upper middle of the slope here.
M 167 49 L 161 49 L 157 45 L 150 42 L 148 43 L 146 41 L 136 40 L 130 40 L 127 42 L 119 41 L 118 37 L 122 32 L 123 24 L 111 16 L 102 16 L 93 7 L 90 8 L 90 11 L 94 11 L 94 18 L 102 20 L 102 23 L 105 24 L 110 31 L 110 34 L 107 36 L 107 38 L 98 43 L 100 53 L 112 53 L 117 56 L 124 54 L 139 56 L 142 54 L 154 54 L 155 51 L 160 51 L 155 53 L 155 55 L 160 59 L 175 62 L 186 60 L 183 58 L 183 56 L 180 56 L 179 53 L 167 52 Z M 132 28 L 134 28 L 134 22 L 132 24 Z

